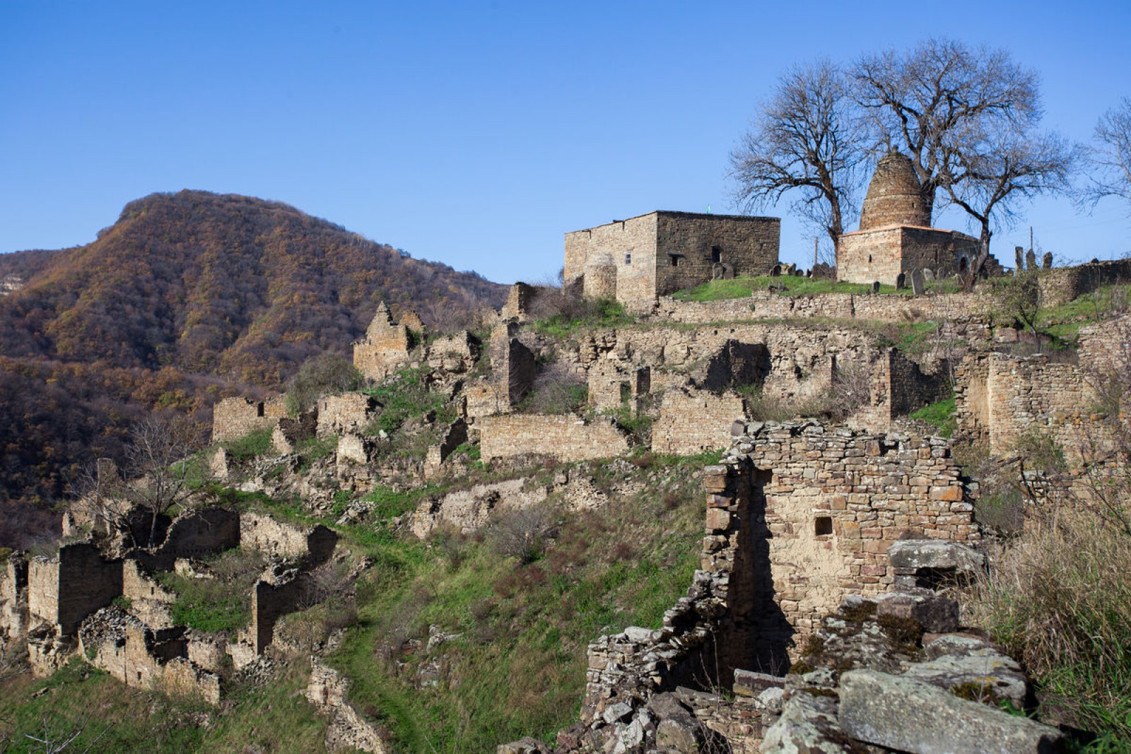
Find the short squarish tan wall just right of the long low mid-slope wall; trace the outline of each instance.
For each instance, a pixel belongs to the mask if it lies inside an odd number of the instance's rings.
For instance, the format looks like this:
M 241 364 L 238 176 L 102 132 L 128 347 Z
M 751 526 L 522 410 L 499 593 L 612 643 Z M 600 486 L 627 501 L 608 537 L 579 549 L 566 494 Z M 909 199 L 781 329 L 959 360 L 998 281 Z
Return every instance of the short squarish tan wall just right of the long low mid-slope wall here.
M 690 456 L 731 444 L 731 425 L 745 418 L 737 396 L 697 390 L 668 390 L 651 426 L 651 449 L 657 453 Z

